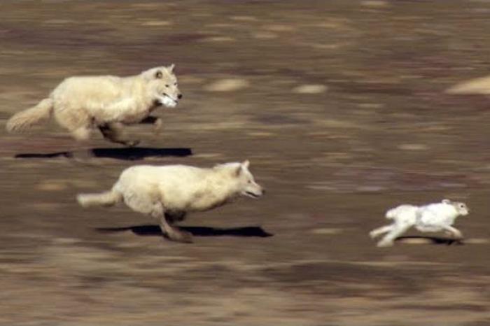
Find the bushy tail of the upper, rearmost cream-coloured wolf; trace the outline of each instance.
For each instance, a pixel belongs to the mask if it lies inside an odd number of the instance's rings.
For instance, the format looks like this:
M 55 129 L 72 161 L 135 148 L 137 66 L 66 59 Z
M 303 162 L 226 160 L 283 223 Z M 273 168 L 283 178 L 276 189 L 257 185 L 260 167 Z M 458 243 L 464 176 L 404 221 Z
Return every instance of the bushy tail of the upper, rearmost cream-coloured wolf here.
M 36 106 L 27 110 L 15 113 L 7 121 L 6 129 L 8 132 L 22 132 L 41 120 L 48 119 L 53 108 L 52 99 L 43 99 Z

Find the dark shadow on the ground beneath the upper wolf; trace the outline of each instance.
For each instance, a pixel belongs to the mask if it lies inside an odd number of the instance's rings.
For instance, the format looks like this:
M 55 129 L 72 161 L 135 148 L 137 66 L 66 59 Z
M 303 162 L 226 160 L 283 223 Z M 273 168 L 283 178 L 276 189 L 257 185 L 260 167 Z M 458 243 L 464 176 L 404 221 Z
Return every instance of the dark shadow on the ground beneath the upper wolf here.
M 146 157 L 184 157 L 193 155 L 190 148 L 151 148 L 151 147 L 124 147 L 124 148 L 92 148 L 90 150 L 67 151 L 55 153 L 21 153 L 15 155 L 15 158 L 53 158 L 66 157 L 73 158 L 77 156 L 85 157 L 103 157 L 116 160 L 143 160 Z

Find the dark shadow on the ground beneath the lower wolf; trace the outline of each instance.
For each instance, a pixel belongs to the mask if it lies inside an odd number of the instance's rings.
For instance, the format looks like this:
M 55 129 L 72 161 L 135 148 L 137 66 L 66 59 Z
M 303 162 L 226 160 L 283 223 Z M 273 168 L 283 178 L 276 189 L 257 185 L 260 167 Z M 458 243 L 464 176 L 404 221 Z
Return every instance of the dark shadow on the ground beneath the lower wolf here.
M 193 236 L 240 236 L 267 238 L 274 234 L 265 231 L 262 227 L 179 227 L 190 232 Z M 103 233 L 131 231 L 139 236 L 165 236 L 158 225 L 135 225 L 131 227 L 99 227 L 96 229 Z

